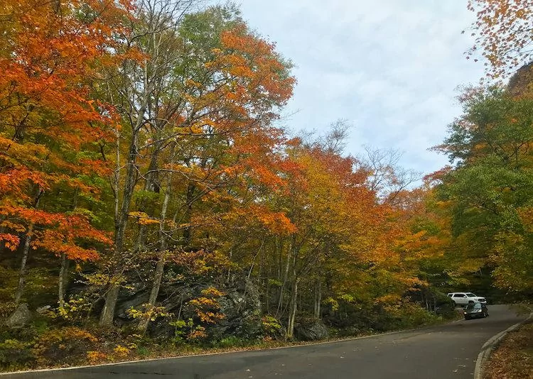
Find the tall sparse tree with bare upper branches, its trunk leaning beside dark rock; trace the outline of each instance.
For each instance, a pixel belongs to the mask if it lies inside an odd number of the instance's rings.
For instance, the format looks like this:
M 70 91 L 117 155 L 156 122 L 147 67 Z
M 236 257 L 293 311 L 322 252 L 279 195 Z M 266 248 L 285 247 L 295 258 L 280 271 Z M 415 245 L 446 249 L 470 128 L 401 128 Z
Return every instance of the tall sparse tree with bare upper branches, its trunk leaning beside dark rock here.
M 148 147 L 154 145 L 152 162 L 155 164 L 161 145 L 166 143 L 157 134 L 162 126 L 178 116 L 179 101 L 176 105 L 161 104 L 161 101 L 167 95 L 168 77 L 180 58 L 176 29 L 183 13 L 193 4 L 192 0 L 146 0 L 136 4 L 136 8 L 131 9 L 129 28 L 118 40 L 117 51 L 127 54 L 133 50 L 139 56 L 137 59 L 124 60 L 122 67 L 112 67 L 106 86 L 99 94 L 114 105 L 123 123 L 114 129 L 114 252 L 109 265 L 109 288 L 100 317 L 102 326 L 112 325 L 122 282 L 122 261 L 126 251 L 124 239 L 131 201 L 139 181 L 141 143 L 148 142 L 146 140 L 149 138 L 145 135 L 145 128 L 156 133 L 156 140 L 147 143 Z M 170 106 L 170 109 L 164 109 L 165 106 Z M 161 114 L 163 110 L 166 114 Z M 147 188 L 154 185 L 153 178 L 154 173 L 150 172 L 146 180 Z

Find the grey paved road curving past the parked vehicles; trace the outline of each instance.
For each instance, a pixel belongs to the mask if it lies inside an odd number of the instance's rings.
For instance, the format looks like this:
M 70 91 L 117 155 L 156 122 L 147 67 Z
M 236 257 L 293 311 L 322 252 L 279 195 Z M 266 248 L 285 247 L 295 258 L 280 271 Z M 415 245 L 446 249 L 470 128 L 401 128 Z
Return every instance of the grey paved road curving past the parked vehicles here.
M 463 379 L 491 336 L 516 324 L 505 305 L 490 317 L 417 331 L 295 348 L 0 375 L 0 379 Z

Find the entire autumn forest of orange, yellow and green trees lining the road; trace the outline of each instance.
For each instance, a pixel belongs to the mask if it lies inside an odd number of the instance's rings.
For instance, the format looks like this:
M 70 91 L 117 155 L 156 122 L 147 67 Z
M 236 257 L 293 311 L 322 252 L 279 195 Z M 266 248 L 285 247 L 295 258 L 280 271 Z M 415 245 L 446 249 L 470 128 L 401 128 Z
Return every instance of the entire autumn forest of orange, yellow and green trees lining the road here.
M 471 4 L 492 76 L 505 3 Z M 465 89 L 435 148 L 451 165 L 421 179 L 392 150 L 346 153 L 345 121 L 289 132 L 292 64 L 236 6 L 0 4 L 2 370 L 360 336 L 454 319 L 446 292 L 533 293 L 529 66 Z

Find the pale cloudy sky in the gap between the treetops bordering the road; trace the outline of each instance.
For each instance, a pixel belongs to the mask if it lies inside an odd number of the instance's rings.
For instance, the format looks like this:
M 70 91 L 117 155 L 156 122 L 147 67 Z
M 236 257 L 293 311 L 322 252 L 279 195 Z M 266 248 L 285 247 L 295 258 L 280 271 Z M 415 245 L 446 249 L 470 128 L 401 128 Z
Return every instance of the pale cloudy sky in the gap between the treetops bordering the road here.
M 294 130 L 352 124 L 347 153 L 363 145 L 403 153 L 424 173 L 446 165 L 428 151 L 461 114 L 456 87 L 483 65 L 463 53 L 473 40 L 466 0 L 237 0 L 243 18 L 294 62 L 298 84 L 284 113 Z

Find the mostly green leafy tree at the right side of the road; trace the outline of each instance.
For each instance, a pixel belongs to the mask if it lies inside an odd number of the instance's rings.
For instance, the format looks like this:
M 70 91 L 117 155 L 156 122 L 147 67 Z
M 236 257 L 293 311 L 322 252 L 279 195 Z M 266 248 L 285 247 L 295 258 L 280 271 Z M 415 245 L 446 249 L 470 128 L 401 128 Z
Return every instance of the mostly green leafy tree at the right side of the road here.
M 469 92 L 463 101 L 465 115 L 438 147 L 456 162 L 438 197 L 451 204 L 453 237 L 468 252 L 470 270 L 490 264 L 499 287 L 531 290 L 525 215 L 533 200 L 533 103 L 498 88 Z

